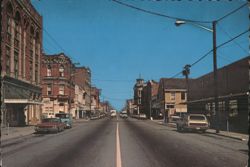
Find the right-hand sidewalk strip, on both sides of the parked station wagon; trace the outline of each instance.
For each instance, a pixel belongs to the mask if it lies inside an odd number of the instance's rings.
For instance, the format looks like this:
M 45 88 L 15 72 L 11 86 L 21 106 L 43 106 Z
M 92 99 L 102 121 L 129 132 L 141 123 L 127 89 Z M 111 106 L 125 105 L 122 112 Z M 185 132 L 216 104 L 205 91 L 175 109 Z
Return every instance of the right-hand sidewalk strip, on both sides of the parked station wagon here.
M 175 123 L 164 124 L 163 120 L 152 120 L 152 121 L 155 122 L 155 123 L 161 124 L 161 125 L 166 125 L 168 127 L 176 128 Z M 249 135 L 248 134 L 242 134 L 242 133 L 236 133 L 236 132 L 228 132 L 228 131 L 220 130 L 219 133 L 216 133 L 215 129 L 208 129 L 206 131 L 206 133 L 210 133 L 210 134 L 214 134 L 214 135 L 218 135 L 218 136 L 223 136 L 223 137 L 229 137 L 229 138 L 232 138 L 232 139 L 242 140 L 242 141 L 248 141 L 249 140 Z

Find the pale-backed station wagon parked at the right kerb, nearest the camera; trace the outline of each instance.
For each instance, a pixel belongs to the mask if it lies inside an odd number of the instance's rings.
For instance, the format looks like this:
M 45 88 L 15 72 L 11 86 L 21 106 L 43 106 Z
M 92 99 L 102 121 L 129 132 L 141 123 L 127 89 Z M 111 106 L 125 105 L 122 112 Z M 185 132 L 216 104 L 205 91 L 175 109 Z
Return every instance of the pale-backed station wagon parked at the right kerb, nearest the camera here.
M 184 115 L 176 122 L 177 131 L 196 130 L 205 132 L 209 128 L 209 123 L 203 114 Z

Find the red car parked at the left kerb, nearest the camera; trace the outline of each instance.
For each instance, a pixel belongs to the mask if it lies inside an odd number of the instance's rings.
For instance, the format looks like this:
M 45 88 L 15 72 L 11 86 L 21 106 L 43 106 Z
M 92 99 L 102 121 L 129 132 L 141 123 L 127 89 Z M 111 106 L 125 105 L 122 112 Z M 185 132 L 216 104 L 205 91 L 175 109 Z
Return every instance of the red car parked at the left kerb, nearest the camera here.
M 60 118 L 45 118 L 42 119 L 42 123 L 35 126 L 35 131 L 37 133 L 45 132 L 61 132 L 64 130 L 65 124 Z

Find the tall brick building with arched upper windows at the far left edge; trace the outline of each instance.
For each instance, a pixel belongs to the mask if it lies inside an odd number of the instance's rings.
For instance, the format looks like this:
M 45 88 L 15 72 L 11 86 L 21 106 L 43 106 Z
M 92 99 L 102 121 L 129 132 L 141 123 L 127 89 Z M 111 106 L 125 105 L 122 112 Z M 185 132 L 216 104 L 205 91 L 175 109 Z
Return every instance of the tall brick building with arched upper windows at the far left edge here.
M 36 124 L 41 112 L 42 16 L 29 0 L 2 0 L 1 16 L 2 123 Z

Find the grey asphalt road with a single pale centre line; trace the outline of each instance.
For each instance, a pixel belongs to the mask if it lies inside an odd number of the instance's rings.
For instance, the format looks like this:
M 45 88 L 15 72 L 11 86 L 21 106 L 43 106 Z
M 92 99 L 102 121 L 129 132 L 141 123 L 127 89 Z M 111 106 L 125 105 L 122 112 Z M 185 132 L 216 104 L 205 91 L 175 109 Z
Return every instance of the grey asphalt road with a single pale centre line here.
M 33 134 L 2 148 L 5 167 L 243 167 L 247 141 L 135 119 L 76 124 L 58 134 Z

